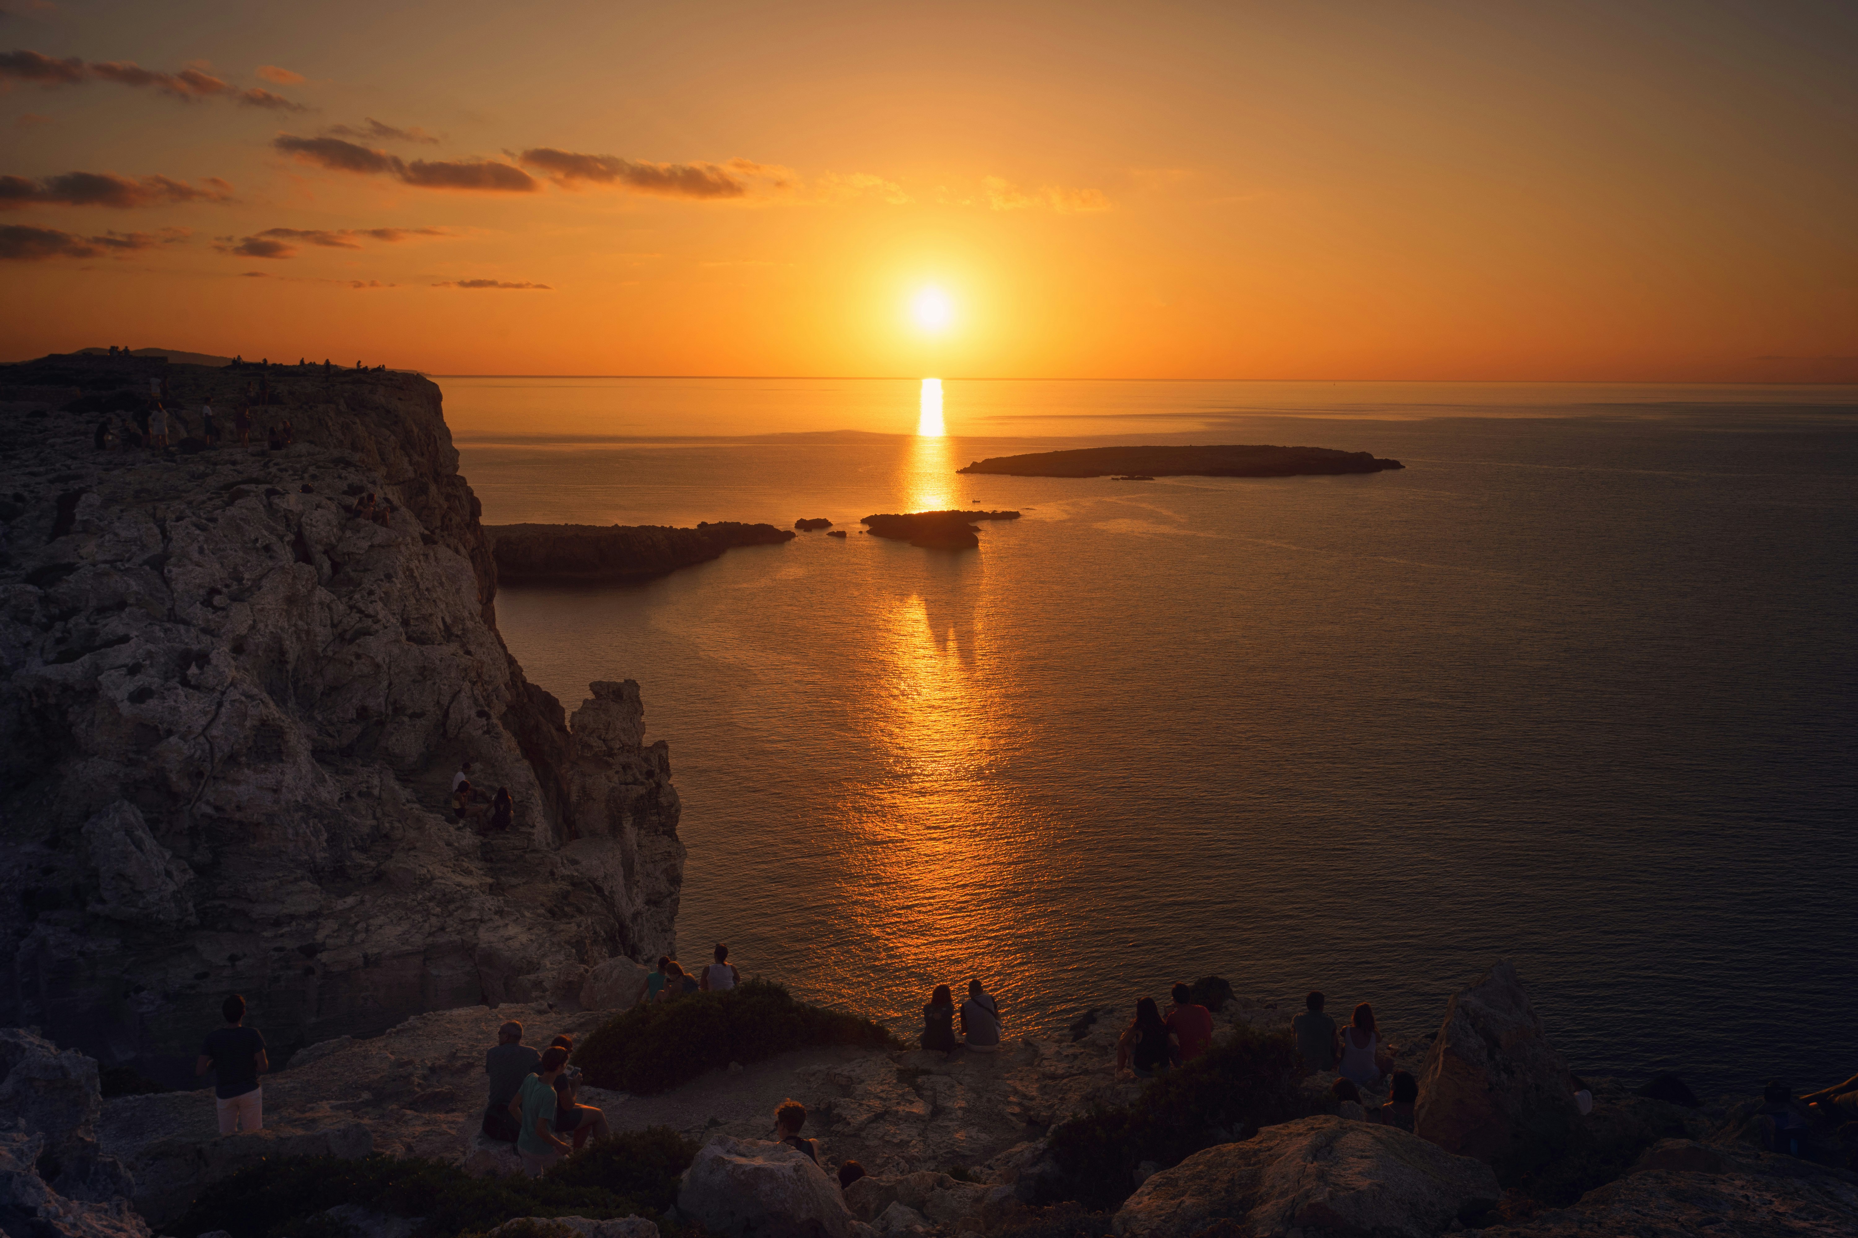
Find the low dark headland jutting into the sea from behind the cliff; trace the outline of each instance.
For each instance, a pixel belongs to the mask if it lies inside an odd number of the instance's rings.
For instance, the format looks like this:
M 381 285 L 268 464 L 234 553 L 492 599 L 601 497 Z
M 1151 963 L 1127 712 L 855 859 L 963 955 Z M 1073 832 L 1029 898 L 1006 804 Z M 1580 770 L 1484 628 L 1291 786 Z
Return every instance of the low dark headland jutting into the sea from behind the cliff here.
M 643 581 L 708 562 L 732 546 L 777 546 L 795 536 L 792 529 L 734 520 L 700 522 L 695 529 L 485 525 L 483 531 L 496 557 L 498 579 L 513 585 Z

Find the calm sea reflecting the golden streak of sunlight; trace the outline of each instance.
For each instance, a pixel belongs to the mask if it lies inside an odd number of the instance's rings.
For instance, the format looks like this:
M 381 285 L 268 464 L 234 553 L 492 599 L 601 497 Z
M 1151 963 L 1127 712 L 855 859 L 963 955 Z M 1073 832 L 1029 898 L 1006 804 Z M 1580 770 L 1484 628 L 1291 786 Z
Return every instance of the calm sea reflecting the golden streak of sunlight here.
M 686 963 L 907 1038 L 1221 974 L 1416 1065 L 1511 960 L 1583 1075 L 1858 1069 L 1858 388 L 437 380 L 487 523 L 849 533 L 498 594 L 570 711 L 639 681 Z M 1109 444 L 1405 468 L 957 473 Z M 858 525 L 970 507 L 1020 518 Z

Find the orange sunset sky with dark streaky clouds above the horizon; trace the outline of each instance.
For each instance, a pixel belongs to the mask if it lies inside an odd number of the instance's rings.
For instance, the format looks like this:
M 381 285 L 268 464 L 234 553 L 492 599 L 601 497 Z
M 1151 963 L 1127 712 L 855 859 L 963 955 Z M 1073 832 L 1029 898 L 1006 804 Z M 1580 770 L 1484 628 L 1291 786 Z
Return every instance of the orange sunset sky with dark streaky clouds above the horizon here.
M 4 360 L 1858 380 L 1851 4 L 4 9 Z

